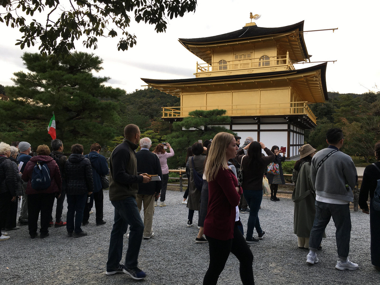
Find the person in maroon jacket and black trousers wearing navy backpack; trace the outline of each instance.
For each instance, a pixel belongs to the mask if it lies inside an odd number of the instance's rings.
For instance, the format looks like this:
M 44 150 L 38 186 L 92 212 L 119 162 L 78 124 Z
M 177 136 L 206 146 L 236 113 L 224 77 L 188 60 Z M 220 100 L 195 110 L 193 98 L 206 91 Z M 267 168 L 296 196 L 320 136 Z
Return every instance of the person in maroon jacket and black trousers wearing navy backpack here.
M 26 194 L 28 195 L 28 227 L 29 234 L 34 239 L 37 234 L 38 215 L 41 211 L 40 237 L 43 239 L 49 235 L 49 222 L 53 211 L 54 198 L 59 197 L 62 191 L 62 179 L 59 167 L 55 160 L 49 156 L 50 149 L 46 144 L 37 147 L 37 156 L 30 158 L 22 173 L 22 180 L 28 182 Z M 40 163 L 42 161 L 42 163 Z M 47 166 L 50 172 L 50 186 L 43 190 L 32 188 L 32 174 L 37 162 L 41 166 Z

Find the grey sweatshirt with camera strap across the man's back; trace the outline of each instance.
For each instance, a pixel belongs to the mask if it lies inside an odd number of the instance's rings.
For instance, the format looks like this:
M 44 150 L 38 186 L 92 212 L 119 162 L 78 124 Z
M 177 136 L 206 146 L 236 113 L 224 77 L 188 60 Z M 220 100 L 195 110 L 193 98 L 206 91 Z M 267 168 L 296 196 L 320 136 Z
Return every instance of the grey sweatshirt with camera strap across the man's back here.
M 350 156 L 341 151 L 335 152 L 317 171 L 318 163 L 332 150 L 334 149 L 322 149 L 313 156 L 311 179 L 315 193 L 326 198 L 352 202 L 352 189 L 355 188 L 358 174 Z M 349 186 L 348 191 L 346 184 Z

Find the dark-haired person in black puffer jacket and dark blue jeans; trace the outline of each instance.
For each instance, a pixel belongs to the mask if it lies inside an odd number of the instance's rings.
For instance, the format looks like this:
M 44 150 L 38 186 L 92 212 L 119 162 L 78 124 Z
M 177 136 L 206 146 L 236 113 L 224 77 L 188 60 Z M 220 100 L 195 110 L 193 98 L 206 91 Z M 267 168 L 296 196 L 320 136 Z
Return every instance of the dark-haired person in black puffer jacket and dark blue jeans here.
M 83 146 L 73 144 L 71 155 L 65 162 L 66 196 L 67 196 L 67 236 L 87 236 L 82 231 L 83 211 L 87 195 L 93 192 L 92 167 L 88 158 L 83 155 Z M 75 215 L 75 223 L 74 223 Z

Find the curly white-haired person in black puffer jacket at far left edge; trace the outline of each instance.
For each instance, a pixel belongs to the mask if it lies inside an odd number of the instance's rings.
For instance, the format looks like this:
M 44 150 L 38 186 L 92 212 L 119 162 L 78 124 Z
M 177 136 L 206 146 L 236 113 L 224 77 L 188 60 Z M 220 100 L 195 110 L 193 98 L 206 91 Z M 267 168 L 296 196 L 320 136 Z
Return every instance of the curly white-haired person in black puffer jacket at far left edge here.
M 7 211 L 11 203 L 16 200 L 17 174 L 12 161 L 11 147 L 5 142 L 0 142 L 0 229 L 5 227 Z M 1 233 L 0 241 L 9 239 L 7 233 Z

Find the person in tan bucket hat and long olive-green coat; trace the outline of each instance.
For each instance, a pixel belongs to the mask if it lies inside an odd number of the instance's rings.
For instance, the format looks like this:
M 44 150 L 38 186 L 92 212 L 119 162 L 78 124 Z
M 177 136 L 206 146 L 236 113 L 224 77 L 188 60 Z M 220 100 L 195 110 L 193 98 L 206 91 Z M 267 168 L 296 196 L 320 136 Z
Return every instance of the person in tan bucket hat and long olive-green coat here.
M 310 144 L 299 148 L 300 159 L 294 165 L 293 176 L 295 188 L 291 196 L 294 202 L 294 234 L 298 236 L 298 247 L 309 248 L 310 231 L 315 218 L 315 189 L 311 180 L 311 159 L 316 149 Z M 326 237 L 326 234 L 323 234 Z

